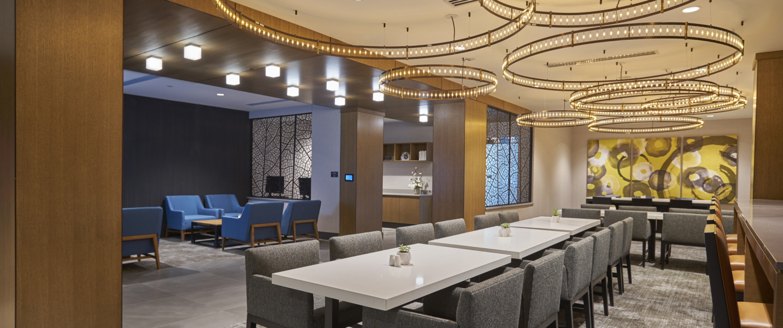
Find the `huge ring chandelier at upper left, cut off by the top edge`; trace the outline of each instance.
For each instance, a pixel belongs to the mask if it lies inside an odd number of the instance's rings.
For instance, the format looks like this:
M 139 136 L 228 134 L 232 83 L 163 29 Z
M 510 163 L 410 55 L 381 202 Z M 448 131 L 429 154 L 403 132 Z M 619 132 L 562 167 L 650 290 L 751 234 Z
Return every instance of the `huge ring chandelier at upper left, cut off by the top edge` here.
M 225 0 L 213 0 L 218 12 L 241 30 L 245 30 L 265 40 L 276 42 L 280 45 L 287 45 L 292 48 L 298 48 L 305 52 L 315 52 L 319 55 L 334 55 L 346 58 L 359 59 L 422 59 L 441 57 L 446 55 L 456 55 L 463 52 L 471 52 L 476 49 L 489 47 L 497 42 L 506 40 L 514 36 L 520 30 L 525 28 L 530 18 L 535 2 L 528 5 L 528 9 L 518 11 L 518 15 L 513 20 L 489 30 L 485 33 L 473 37 L 464 37 L 458 40 L 439 42 L 428 45 L 399 45 L 399 46 L 379 46 L 379 45 L 348 45 L 339 42 L 321 41 L 309 37 L 301 37 L 296 34 L 290 34 L 282 30 L 276 30 L 265 26 L 250 17 L 245 16 L 232 5 L 226 4 Z

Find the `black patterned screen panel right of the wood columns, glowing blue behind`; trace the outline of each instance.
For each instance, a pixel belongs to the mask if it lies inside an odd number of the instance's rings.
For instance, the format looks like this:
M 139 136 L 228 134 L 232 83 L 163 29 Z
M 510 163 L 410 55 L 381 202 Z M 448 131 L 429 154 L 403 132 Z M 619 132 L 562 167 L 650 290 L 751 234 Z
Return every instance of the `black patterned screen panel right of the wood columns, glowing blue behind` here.
M 487 107 L 486 207 L 531 201 L 533 132 L 516 118 Z

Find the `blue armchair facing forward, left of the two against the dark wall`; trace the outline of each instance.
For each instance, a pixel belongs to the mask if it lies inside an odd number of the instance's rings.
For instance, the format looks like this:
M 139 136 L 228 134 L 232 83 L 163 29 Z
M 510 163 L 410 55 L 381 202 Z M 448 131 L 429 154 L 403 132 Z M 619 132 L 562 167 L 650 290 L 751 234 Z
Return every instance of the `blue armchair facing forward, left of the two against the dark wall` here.
M 193 196 L 166 196 L 166 237 L 169 232 L 179 231 L 182 241 L 185 234 L 193 234 L 190 222 L 204 219 L 218 219 L 222 209 L 204 209 L 201 198 Z M 203 227 L 202 227 L 203 228 Z

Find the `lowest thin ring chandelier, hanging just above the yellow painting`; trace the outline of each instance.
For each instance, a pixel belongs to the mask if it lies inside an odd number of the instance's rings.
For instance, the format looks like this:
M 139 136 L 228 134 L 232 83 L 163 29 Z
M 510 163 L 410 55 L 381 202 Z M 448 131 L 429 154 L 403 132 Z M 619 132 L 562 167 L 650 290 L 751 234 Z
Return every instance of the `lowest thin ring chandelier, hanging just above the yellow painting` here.
M 629 123 L 669 123 L 666 126 L 651 127 L 612 127 L 617 124 Z M 649 134 L 658 132 L 671 132 L 681 130 L 698 129 L 704 126 L 704 120 L 689 116 L 631 116 L 615 117 L 612 119 L 598 119 L 587 125 L 593 132 L 607 132 L 611 134 Z

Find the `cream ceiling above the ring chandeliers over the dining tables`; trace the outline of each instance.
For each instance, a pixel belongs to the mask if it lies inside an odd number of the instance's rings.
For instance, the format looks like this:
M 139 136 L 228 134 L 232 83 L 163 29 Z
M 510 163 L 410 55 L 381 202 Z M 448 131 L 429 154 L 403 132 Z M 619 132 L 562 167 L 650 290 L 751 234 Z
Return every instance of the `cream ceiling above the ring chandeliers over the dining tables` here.
M 456 8 L 444 0 L 237 0 L 237 2 L 355 45 L 414 45 L 448 41 L 453 37 L 453 27 L 451 20 L 445 18 L 447 14 L 459 15 L 455 20 L 456 38 L 483 33 L 504 23 L 500 18 L 485 11 L 478 2 Z M 507 3 L 520 7 L 525 5 L 525 2 L 520 0 L 507 0 Z M 612 0 L 604 1 L 603 5 L 599 5 L 596 0 L 539 0 L 538 3 L 539 10 L 554 12 L 593 11 L 612 8 L 618 4 Z M 619 5 L 628 4 L 630 0 L 619 0 Z M 716 27 L 734 30 L 745 37 L 745 59 L 730 70 L 718 73 L 707 80 L 737 87 L 749 100 L 749 105 L 745 109 L 722 113 L 713 119 L 752 116 L 753 57 L 757 52 L 783 49 L 783 34 L 779 32 L 783 30 L 783 20 L 778 18 L 779 13 L 783 12 L 783 1 L 719 0 L 710 3 L 708 0 L 699 0 L 692 5 L 701 6 L 702 9 L 693 13 L 684 13 L 680 9 L 675 9 L 637 22 L 712 23 Z M 294 10 L 298 10 L 298 15 L 294 15 Z M 468 19 L 468 12 L 471 12 L 470 19 Z M 740 26 L 742 20 L 745 21 L 744 27 Z M 387 23 L 385 30 L 383 23 Z M 409 33 L 406 33 L 406 27 L 410 27 Z M 476 60 L 466 63 L 467 66 L 492 70 L 500 77 L 500 84 L 493 96 L 534 111 L 562 109 L 562 100 L 568 98 L 568 92 L 542 91 L 511 84 L 502 78 L 500 62 L 506 49 L 511 51 L 529 41 L 569 30 L 571 29 L 525 27 L 525 30 L 516 36 L 489 48 L 462 55 L 410 60 L 406 63 L 461 64 L 462 57 L 473 57 Z M 691 65 L 702 65 L 714 61 L 716 55 L 726 56 L 730 53 L 727 48 L 703 41 L 688 42 L 687 48 L 694 48 L 693 52 L 689 52 L 684 43 L 683 40 L 640 40 L 586 45 L 547 52 L 515 64 L 512 69 L 532 77 L 549 77 L 554 80 L 600 80 L 604 76 L 612 79 L 616 78 L 619 72 L 615 62 L 573 66 L 572 71 L 568 66 L 547 69 L 545 64 L 602 57 L 604 50 L 606 55 L 657 50 L 658 55 L 622 59 L 623 68 L 628 71 L 630 77 L 644 77 L 664 73 L 664 69 L 680 70 Z

